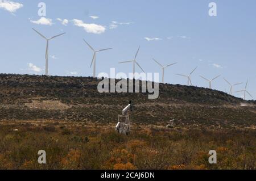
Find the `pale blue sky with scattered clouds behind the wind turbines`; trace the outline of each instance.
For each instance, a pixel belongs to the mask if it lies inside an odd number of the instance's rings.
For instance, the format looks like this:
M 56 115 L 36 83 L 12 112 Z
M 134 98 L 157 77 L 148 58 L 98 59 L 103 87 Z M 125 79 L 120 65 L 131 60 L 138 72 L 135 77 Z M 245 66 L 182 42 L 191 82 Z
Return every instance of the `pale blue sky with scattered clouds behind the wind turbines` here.
M 46 3 L 44 19 L 38 15 L 39 2 Z M 217 16 L 209 16 L 210 2 L 216 2 Z M 95 49 L 113 48 L 98 54 L 97 73 L 110 68 L 131 72 L 131 64 L 118 62 L 132 60 L 141 45 L 138 62 L 147 72 L 161 70 L 152 58 L 164 65 L 178 62 L 166 69 L 167 83 L 185 85 L 186 79 L 175 74 L 189 74 L 198 66 L 193 85 L 208 87 L 199 75 L 210 79 L 221 74 L 213 89 L 228 92 L 223 77 L 244 82 L 234 91 L 249 79 L 248 91 L 256 98 L 255 9 L 255 0 L 0 0 L 0 72 L 44 74 L 46 41 L 35 28 L 47 37 L 67 33 L 50 41 L 50 75 L 92 75 L 92 51 L 84 38 Z

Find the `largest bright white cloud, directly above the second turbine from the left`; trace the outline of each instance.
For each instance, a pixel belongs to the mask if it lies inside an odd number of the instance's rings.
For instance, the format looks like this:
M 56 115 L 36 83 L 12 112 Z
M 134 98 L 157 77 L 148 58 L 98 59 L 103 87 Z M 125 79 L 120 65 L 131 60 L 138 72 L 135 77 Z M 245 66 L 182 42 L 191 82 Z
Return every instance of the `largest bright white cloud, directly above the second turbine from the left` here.
M 75 26 L 84 28 L 84 30 L 88 33 L 101 34 L 101 33 L 104 33 L 106 30 L 104 26 L 101 26 L 98 24 L 94 24 L 94 23 L 87 24 L 79 19 L 73 19 L 72 21 Z

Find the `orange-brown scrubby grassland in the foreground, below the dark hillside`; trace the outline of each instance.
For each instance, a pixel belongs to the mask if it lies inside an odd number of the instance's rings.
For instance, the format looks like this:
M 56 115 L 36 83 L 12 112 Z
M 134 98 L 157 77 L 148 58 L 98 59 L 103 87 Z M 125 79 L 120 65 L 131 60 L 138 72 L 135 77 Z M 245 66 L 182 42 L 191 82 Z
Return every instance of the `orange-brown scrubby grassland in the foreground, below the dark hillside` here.
M 70 121 L 1 121 L 0 169 L 256 169 L 254 129 L 134 126 L 130 136 Z M 218 163 L 208 163 L 217 150 Z M 47 164 L 38 164 L 46 150 Z

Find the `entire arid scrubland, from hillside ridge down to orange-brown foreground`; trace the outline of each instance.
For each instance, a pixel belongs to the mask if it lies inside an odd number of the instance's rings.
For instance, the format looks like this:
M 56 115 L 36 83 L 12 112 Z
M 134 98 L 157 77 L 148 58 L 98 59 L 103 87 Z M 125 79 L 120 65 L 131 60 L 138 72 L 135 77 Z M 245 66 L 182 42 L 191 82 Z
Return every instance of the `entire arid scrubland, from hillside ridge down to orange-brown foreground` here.
M 168 84 L 149 100 L 100 94 L 97 83 L 0 74 L 0 169 L 256 169 L 255 101 Z M 133 127 L 123 136 L 114 128 L 129 100 Z

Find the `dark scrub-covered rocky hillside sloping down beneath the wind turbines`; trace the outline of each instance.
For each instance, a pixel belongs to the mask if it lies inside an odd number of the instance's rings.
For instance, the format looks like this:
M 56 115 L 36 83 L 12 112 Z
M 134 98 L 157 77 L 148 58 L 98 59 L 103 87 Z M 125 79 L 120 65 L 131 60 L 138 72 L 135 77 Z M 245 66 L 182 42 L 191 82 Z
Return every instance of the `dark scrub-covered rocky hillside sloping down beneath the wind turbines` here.
M 116 80 L 118 82 L 118 80 Z M 255 127 L 256 101 L 193 86 L 159 85 L 159 98 L 148 94 L 97 91 L 91 77 L 46 77 L 0 74 L 0 120 L 67 120 L 117 122 L 118 113 L 133 100 L 134 122 L 197 127 Z

